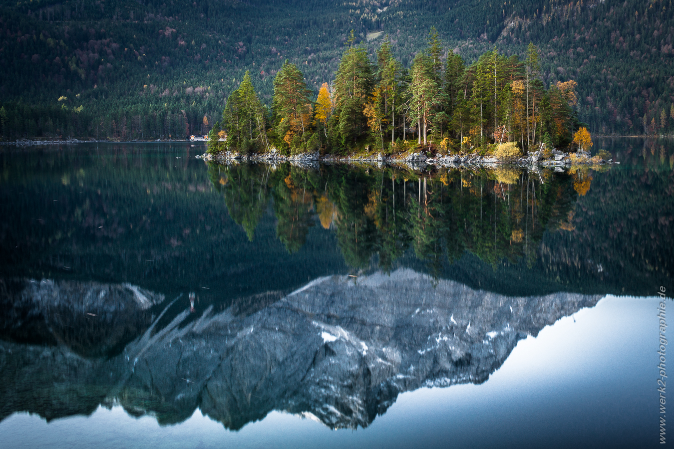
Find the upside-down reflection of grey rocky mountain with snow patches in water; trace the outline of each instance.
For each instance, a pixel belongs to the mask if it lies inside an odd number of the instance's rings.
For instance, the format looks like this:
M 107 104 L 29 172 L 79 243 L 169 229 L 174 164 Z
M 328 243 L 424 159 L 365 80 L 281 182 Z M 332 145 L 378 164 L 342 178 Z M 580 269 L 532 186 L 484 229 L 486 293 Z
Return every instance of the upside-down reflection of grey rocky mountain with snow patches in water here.
M 63 326 L 44 291 L 28 284 L 15 286 L 13 298 L 24 300 L 5 303 L 3 313 L 26 317 L 16 328 Z M 73 304 L 101 291 L 100 285 L 79 287 Z M 126 291 L 122 300 L 98 307 L 117 304 L 119 314 L 145 310 Z M 365 427 L 400 392 L 485 382 L 519 339 L 597 300 L 576 293 L 508 297 L 398 269 L 315 279 L 247 313 L 208 308 L 190 319 L 187 304 L 179 302 L 180 310 L 143 315 L 140 336 L 111 358 L 83 357 L 67 341 L 1 341 L 0 417 L 30 411 L 54 419 L 119 402 L 128 413 L 152 413 L 160 423 L 183 421 L 198 407 L 229 429 L 272 410 L 334 428 Z M 70 312 L 86 312 L 80 309 Z M 119 326 L 109 319 L 99 324 L 101 333 Z M 111 344 L 92 344 L 99 343 Z

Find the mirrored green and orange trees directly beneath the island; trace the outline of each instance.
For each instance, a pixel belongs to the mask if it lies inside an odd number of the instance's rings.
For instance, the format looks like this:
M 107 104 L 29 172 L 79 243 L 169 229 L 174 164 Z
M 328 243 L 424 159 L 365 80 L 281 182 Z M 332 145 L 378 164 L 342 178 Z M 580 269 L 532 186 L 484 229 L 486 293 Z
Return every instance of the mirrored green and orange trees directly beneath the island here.
M 543 232 L 566 223 L 577 197 L 574 178 L 549 170 L 419 174 L 290 164 L 211 164 L 209 170 L 249 238 L 272 197 L 276 234 L 289 252 L 303 246 L 317 217 L 324 228 L 335 228 L 346 263 L 359 269 L 376 255 L 379 267 L 388 270 L 410 246 L 433 273 L 445 256 L 451 262 L 466 250 L 491 265 L 531 259 Z

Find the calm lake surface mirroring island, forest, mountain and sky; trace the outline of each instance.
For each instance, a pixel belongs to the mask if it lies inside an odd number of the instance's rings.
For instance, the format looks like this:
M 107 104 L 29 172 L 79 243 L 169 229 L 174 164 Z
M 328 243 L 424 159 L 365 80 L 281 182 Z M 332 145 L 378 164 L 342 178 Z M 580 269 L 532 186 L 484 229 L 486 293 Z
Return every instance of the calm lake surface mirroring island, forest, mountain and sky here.
M 3 444 L 655 447 L 674 140 L 599 148 L 620 164 L 3 147 Z

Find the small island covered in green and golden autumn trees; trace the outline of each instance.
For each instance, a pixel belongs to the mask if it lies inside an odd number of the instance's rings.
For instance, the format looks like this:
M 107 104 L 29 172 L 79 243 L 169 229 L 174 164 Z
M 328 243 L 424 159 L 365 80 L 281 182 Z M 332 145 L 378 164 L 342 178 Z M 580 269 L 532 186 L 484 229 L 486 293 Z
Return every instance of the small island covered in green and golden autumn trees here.
M 546 89 L 534 44 L 524 61 L 494 48 L 466 65 L 452 51 L 444 57 L 431 28 L 427 48 L 407 70 L 394 57 L 388 36 L 375 61 L 355 40 L 352 31 L 334 81 L 321 85 L 315 101 L 303 73 L 287 60 L 274 78 L 271 110 L 246 72 L 210 130 L 210 158 L 266 153 L 383 160 L 413 153 L 425 160 L 476 153 L 514 162 L 532 150 L 549 159 L 554 149 L 572 143 L 589 156 L 590 133 L 574 110 L 577 84 L 557 81 Z

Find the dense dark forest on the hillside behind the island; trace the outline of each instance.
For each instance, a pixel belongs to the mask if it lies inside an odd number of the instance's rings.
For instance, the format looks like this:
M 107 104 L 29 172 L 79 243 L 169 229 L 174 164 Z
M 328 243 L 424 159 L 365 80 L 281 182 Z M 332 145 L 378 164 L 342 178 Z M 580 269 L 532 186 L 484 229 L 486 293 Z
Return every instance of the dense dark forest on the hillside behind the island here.
M 0 131 L 22 137 L 185 138 L 206 133 L 249 70 L 272 108 L 284 61 L 309 96 L 333 83 L 349 31 L 370 61 L 389 36 L 410 71 L 431 26 L 441 59 L 472 65 L 496 47 L 540 79 L 578 85 L 593 133 L 674 131 L 671 0 L 30 0 L 0 2 Z

